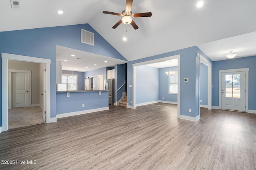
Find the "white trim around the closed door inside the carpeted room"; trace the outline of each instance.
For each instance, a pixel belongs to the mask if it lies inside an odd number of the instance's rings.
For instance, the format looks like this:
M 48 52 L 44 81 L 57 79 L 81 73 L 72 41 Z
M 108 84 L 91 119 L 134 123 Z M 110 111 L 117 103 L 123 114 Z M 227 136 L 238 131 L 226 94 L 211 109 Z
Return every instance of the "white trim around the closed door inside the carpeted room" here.
M 12 72 L 28 73 L 28 107 L 31 107 L 31 70 L 8 70 L 8 109 L 12 108 Z

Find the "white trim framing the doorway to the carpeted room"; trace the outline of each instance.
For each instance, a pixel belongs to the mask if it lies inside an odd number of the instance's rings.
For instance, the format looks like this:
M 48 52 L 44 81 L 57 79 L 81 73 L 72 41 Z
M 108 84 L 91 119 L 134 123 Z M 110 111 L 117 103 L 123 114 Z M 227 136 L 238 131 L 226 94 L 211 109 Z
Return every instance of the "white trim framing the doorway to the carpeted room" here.
M 50 59 L 2 53 L 2 131 L 8 130 L 8 60 L 46 64 L 46 123 L 50 123 Z

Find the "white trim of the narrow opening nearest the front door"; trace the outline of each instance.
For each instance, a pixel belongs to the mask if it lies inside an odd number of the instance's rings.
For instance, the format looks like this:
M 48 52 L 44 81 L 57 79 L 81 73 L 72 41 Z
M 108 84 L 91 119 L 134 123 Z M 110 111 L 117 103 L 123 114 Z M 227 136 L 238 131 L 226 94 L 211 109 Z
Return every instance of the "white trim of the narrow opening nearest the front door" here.
M 207 66 L 207 72 L 208 72 L 208 80 L 207 80 L 207 108 L 208 110 L 212 109 L 212 63 L 210 63 L 206 58 L 204 58 L 202 55 L 200 55 L 200 63 L 203 63 Z M 200 103 L 200 99 L 199 99 Z M 199 106 L 200 107 L 200 106 Z M 199 108 L 200 111 L 200 108 Z

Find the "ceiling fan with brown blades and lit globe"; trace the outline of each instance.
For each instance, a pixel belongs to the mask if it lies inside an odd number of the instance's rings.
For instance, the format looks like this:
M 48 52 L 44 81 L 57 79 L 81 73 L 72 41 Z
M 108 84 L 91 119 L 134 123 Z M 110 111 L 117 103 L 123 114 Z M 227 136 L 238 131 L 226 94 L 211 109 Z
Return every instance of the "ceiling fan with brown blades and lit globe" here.
M 132 1 L 133 0 L 126 0 L 126 8 L 122 12 L 122 14 L 115 13 L 115 12 L 108 12 L 108 11 L 103 11 L 103 14 L 111 14 L 111 15 L 116 15 L 116 16 L 122 16 L 123 18 L 119 20 L 116 25 L 114 25 L 112 28 L 118 27 L 122 22 L 124 24 L 131 24 L 134 29 L 138 29 L 139 27 L 136 25 L 136 23 L 132 20 L 132 18 L 137 18 L 137 17 L 151 17 L 152 13 L 151 12 L 145 12 L 145 13 L 137 13 L 137 14 L 132 14 L 131 8 L 132 8 Z

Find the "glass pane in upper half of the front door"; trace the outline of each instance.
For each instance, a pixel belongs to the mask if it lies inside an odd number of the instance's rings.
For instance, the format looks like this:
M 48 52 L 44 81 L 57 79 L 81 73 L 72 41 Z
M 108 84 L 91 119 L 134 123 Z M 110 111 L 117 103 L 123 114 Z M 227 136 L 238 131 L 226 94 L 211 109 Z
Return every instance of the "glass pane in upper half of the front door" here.
M 241 74 L 226 75 L 226 98 L 240 98 L 240 77 Z

